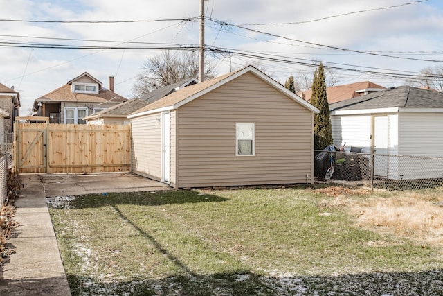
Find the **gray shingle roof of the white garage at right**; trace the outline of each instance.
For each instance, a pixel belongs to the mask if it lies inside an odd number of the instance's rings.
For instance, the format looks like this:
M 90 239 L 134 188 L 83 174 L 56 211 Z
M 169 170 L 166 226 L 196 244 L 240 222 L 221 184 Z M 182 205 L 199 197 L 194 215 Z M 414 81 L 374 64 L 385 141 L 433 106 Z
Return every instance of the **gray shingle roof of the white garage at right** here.
M 417 87 L 401 86 L 334 103 L 329 105 L 329 110 L 363 110 L 390 107 L 443 108 L 443 93 Z

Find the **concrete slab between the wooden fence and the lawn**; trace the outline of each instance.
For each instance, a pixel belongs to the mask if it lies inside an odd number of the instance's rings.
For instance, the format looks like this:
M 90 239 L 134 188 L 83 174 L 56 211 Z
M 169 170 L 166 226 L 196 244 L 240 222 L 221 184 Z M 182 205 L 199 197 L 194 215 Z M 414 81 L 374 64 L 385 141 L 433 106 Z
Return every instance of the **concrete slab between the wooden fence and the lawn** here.
M 46 197 L 89 193 L 158 191 L 171 189 L 167 184 L 132 173 L 93 175 L 39 175 Z

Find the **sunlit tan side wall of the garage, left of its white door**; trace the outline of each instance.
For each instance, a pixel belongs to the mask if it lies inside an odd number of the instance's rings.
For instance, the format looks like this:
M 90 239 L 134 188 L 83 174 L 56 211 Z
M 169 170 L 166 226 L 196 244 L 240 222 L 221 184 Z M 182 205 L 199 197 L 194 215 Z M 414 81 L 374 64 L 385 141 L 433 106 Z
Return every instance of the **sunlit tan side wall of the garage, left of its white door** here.
M 132 119 L 132 169 L 135 173 L 161 180 L 160 114 Z

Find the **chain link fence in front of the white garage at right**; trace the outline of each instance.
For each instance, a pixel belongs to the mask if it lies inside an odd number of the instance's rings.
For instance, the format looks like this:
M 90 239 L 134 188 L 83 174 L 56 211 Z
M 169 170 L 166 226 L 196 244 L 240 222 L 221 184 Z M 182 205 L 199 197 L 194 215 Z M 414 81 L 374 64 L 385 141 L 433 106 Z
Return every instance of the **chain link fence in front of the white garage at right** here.
M 443 186 L 443 158 L 315 151 L 316 180 L 370 189 L 416 190 Z

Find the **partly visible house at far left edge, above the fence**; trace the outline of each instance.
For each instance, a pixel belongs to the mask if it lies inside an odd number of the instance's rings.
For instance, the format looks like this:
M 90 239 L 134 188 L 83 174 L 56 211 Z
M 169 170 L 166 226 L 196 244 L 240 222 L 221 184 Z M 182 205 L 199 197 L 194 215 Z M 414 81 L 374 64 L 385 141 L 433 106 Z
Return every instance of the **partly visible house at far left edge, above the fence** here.
M 12 132 L 14 129 L 15 117 L 19 116 L 20 96 L 15 92 L 14 87 L 6 87 L 0 83 L 0 115 L 4 121 L 4 127 L 0 130 L 0 137 L 12 143 Z M 6 112 L 6 113 L 5 113 Z M 8 114 L 8 115 L 6 115 Z

